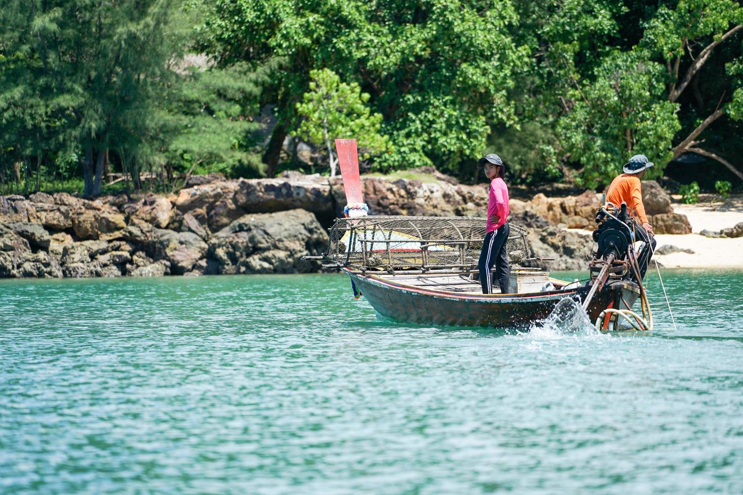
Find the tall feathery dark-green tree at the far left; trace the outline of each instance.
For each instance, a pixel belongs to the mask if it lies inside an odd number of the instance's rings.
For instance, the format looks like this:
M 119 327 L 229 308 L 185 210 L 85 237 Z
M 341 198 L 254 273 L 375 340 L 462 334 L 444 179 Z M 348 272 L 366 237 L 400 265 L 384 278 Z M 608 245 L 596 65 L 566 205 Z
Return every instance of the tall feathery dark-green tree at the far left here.
M 0 88 L 0 105 L 13 109 L 3 141 L 37 160 L 42 150 L 24 137 L 79 145 L 84 194 L 100 194 L 108 150 L 136 151 L 158 132 L 156 102 L 174 77 L 170 64 L 182 45 L 178 4 L 7 2 L 0 73 L 5 81 L 20 77 Z

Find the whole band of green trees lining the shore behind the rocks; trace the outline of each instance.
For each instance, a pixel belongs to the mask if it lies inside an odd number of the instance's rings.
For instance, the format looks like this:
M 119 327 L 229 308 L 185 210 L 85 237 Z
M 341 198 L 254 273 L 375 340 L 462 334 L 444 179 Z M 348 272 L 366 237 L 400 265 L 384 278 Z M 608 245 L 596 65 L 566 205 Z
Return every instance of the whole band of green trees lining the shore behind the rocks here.
M 16 190 L 46 169 L 97 194 L 109 157 L 135 185 L 273 176 L 289 135 L 331 160 L 353 135 L 372 168 L 465 180 L 486 151 L 525 183 L 605 186 L 632 154 L 652 175 L 696 154 L 689 182 L 743 180 L 738 1 L 6 0 L 0 22 Z

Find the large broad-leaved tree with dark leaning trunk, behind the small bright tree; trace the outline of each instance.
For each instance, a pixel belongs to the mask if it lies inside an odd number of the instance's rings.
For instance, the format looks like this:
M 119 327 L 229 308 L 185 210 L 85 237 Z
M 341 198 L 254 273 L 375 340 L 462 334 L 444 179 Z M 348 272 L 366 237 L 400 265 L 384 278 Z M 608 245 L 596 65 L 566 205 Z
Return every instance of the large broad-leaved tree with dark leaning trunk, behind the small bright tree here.
M 280 57 L 265 91 L 279 119 L 264 155 L 268 174 L 296 133 L 296 103 L 310 71 L 330 68 L 369 93 L 392 154 L 379 166 L 435 164 L 458 171 L 484 151 L 494 125 L 517 125 L 508 97 L 530 52 L 513 41 L 510 1 L 218 0 L 207 6 L 203 46 L 221 63 Z

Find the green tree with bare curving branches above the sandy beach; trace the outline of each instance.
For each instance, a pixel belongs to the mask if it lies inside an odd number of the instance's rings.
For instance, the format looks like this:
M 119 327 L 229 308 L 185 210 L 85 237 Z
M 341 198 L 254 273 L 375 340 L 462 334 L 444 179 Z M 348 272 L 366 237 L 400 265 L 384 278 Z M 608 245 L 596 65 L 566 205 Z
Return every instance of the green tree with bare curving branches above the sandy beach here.
M 720 117 L 739 118 L 740 50 L 724 51 L 721 62 L 710 63 L 718 47 L 739 36 L 739 4 L 527 5 L 525 36 L 538 47 L 539 73 L 529 111 L 556 131 L 553 142 L 542 143 L 554 150 L 553 163 L 577 165 L 568 174 L 597 186 L 608 183 L 632 154 L 650 157 L 657 175 L 669 160 L 694 152 L 743 177 L 714 151 L 701 148 L 704 137 L 699 139 Z

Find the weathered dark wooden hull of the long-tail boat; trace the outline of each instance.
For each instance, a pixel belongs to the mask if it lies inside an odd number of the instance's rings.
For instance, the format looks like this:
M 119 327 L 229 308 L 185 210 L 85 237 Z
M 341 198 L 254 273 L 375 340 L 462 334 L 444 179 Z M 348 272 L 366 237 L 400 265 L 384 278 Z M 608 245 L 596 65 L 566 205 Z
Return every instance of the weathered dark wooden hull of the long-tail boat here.
M 406 286 L 375 275 L 344 271 L 380 315 L 415 324 L 529 327 L 547 318 L 562 299 L 571 298 L 580 304 L 590 290 L 588 286 L 578 286 L 530 294 L 473 295 Z M 630 308 L 639 295 L 639 289 L 631 282 L 608 283 L 588 307 L 588 317 L 595 321 L 607 307 Z

